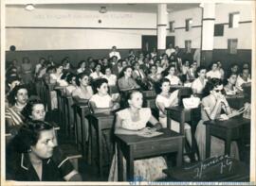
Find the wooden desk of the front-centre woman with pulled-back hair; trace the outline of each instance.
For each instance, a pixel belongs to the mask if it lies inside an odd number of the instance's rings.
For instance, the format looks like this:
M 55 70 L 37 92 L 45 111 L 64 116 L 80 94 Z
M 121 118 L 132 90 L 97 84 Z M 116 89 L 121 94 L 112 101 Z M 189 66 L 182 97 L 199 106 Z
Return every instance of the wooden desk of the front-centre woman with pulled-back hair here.
M 122 158 L 126 159 L 127 180 L 134 180 L 134 161 L 145 157 L 177 152 L 176 165 L 182 164 L 184 135 L 162 128 L 162 135 L 144 138 L 137 135 L 116 134 L 119 154 L 119 181 L 122 181 Z

